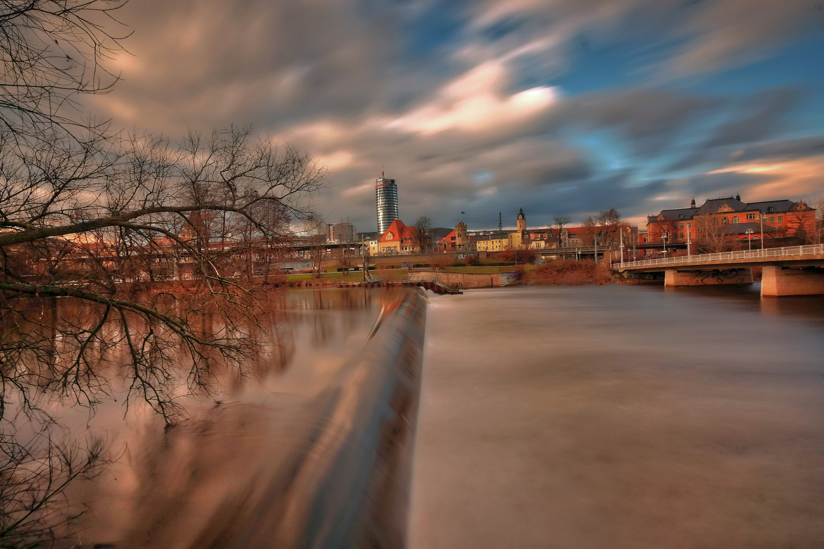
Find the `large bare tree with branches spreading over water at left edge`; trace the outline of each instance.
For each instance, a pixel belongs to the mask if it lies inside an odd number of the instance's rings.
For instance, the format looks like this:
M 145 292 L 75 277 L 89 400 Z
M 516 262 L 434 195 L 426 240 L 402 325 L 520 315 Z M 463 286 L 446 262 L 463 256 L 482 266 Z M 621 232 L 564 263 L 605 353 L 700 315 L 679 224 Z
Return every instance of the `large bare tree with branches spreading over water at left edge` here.
M 117 80 L 103 62 L 124 53 L 109 30 L 123 4 L 0 2 L 2 547 L 59 535 L 78 512 L 63 488 L 105 463 L 100 444 L 53 437 L 45 404 L 93 410 L 115 365 L 127 405 L 168 424 L 176 396 L 242 375 L 269 270 L 324 184 L 309 156 L 250 128 L 170 142 L 78 117 L 78 94 Z

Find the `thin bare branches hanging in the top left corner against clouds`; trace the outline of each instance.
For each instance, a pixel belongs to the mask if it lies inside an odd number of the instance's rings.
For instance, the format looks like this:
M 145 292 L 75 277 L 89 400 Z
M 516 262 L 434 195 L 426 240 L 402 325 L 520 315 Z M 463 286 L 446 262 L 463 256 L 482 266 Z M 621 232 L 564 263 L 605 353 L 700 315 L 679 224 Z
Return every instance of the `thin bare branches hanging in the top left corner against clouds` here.
M 0 127 L 13 141 L 37 142 L 49 130 L 83 139 L 89 128 L 105 128 L 76 118 L 76 97 L 105 94 L 118 80 L 105 61 L 124 54 L 119 42 L 128 33 L 115 12 L 125 2 L 0 3 Z

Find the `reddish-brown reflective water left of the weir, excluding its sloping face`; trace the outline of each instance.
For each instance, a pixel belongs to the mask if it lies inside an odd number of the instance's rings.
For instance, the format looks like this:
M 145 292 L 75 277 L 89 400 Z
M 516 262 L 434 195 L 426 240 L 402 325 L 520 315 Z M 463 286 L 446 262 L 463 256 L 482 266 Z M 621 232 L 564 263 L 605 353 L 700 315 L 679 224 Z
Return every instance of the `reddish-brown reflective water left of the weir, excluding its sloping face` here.
M 127 412 L 113 370 L 115 392 L 91 419 L 84 408 L 59 413 L 73 435 L 104 435 L 121 456 L 107 474 L 68 488 L 69 500 L 88 512 L 71 524 L 78 534 L 67 547 L 297 547 L 305 533 L 290 533 L 304 526 L 288 517 L 297 501 L 290 486 L 310 458 L 320 460 L 315 472 L 334 458 L 319 449 L 319 437 L 332 436 L 330 448 L 344 442 L 328 426 L 351 421 L 341 406 L 363 393 L 353 358 L 381 310 L 409 293 L 273 294 L 260 355 L 242 372 L 216 370 L 211 394 L 181 391 L 185 420 L 171 428 L 143 402 Z M 204 319 L 204 329 L 214 329 L 211 322 Z M 302 489 L 302 497 L 313 493 Z

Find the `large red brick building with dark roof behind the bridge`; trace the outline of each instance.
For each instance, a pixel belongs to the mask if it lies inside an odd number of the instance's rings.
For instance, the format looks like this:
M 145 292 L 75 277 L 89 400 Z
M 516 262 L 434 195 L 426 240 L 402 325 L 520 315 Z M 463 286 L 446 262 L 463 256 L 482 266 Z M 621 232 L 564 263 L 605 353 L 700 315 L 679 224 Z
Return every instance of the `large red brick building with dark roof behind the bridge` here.
M 662 210 L 657 216 L 648 216 L 646 240 L 674 245 L 687 241 L 696 244 L 714 241 L 723 244 L 717 246 L 719 248 L 730 248 L 737 242 L 760 240 L 762 226 L 765 240 L 803 242 L 815 233 L 816 211 L 803 200 L 746 203 L 740 196 L 735 196 L 713 198 L 700 207 L 696 207 L 693 200 L 690 207 Z

